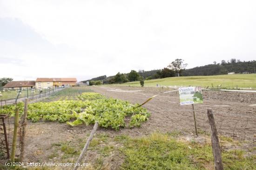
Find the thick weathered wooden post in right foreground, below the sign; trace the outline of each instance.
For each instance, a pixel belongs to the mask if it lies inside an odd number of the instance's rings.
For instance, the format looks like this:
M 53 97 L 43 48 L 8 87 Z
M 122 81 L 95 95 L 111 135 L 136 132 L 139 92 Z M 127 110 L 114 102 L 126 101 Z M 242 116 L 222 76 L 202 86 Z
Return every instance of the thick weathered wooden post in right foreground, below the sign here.
M 207 109 L 207 116 L 209 119 L 209 124 L 211 126 L 211 143 L 212 143 L 212 152 L 214 157 L 215 170 L 223 170 L 219 138 L 217 135 L 215 120 L 214 120 L 211 109 Z

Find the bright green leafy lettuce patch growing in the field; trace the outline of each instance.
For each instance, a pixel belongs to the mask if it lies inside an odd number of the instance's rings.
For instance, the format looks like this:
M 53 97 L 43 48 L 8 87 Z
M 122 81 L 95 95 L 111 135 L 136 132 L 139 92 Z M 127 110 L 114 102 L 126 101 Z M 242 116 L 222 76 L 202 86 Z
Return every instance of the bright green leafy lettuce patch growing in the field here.
M 119 130 L 120 127 L 125 126 L 141 126 L 141 123 L 150 116 L 145 108 L 137 107 L 139 104 L 132 105 L 128 101 L 107 98 L 97 93 L 83 93 L 76 99 L 28 104 L 27 118 L 33 122 L 39 120 L 67 122 L 70 126 L 90 125 L 98 121 L 101 127 Z M 24 109 L 23 102 L 2 107 L 2 113 L 14 116 L 16 107 L 21 116 Z

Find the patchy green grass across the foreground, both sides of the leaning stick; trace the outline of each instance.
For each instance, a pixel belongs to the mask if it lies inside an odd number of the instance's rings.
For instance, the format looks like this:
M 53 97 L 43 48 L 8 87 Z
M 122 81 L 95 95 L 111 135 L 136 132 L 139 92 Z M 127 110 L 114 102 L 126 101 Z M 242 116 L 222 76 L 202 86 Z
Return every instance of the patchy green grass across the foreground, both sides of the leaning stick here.
M 105 132 L 97 133 L 88 148 L 88 153 L 94 153 L 94 156 L 87 159 L 90 160 L 90 166 L 85 169 L 109 170 L 112 165 L 109 161 L 114 160 L 120 162 L 116 167 L 118 170 L 213 170 L 211 145 L 193 139 L 187 141 L 183 137 L 182 132 L 179 131 L 154 132 L 143 137 L 121 134 L 115 138 L 109 137 Z M 208 140 L 209 138 L 207 137 Z M 225 139 L 231 141 L 229 138 Z M 64 163 L 74 162 L 86 141 L 87 138 L 82 137 L 54 143 L 53 152 L 48 158 Z M 227 143 L 227 146 L 229 144 Z M 239 149 L 235 151 L 230 148 L 222 151 L 224 170 L 254 170 L 255 160 L 255 154 L 250 153 L 248 156 L 247 151 Z M 25 169 L 20 168 L 20 170 Z M 28 167 L 26 170 L 34 169 Z M 55 169 L 49 167 L 47 170 Z

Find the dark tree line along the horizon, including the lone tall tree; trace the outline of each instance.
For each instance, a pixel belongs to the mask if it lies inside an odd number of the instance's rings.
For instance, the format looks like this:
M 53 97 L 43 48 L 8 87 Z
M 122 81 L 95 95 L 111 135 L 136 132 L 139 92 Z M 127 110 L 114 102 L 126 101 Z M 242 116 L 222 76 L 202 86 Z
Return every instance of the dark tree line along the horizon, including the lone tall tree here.
M 235 73 L 256 73 L 256 61 L 240 61 L 235 58 L 231 58 L 228 61 L 222 60 L 220 63 L 216 61 L 213 64 L 208 64 L 200 67 L 195 67 L 192 69 L 186 69 L 187 63 L 184 63 L 182 59 L 175 59 L 172 63 L 168 64 L 167 67 L 163 69 L 154 69 L 150 71 L 145 70 L 131 70 L 129 73 L 118 72 L 115 76 L 99 76 L 88 81 L 93 81 L 90 83 L 92 85 L 97 84 L 112 84 L 112 83 L 125 83 L 125 82 L 135 82 L 140 81 L 141 85 L 144 80 L 175 77 L 175 76 L 214 76 L 214 75 L 224 75 L 229 72 Z M 87 82 L 87 81 L 83 81 Z

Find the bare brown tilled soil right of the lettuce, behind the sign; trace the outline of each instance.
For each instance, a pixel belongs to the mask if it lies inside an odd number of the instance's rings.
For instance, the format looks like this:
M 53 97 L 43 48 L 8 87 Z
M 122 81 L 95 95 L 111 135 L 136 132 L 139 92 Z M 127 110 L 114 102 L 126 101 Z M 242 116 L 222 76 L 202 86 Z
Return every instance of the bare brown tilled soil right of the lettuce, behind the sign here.
M 160 94 L 143 105 L 152 115 L 141 128 L 133 130 L 132 134 L 134 135 L 137 133 L 136 131 L 143 134 L 155 130 L 160 132 L 179 130 L 184 133 L 194 133 L 195 131 L 192 106 L 179 104 L 178 91 L 163 94 L 163 92 L 175 90 L 173 88 L 104 86 L 91 87 L 91 89 L 108 97 L 131 103 L 143 103 L 148 97 Z M 118 92 L 124 90 L 143 91 Z M 249 106 L 256 104 L 256 93 L 203 90 L 202 94 L 203 104 L 195 105 L 197 127 L 200 130 L 209 131 L 207 109 L 210 108 L 214 113 L 217 131 L 220 134 L 234 139 L 256 142 L 256 106 Z M 124 129 L 124 131 L 128 130 Z M 130 132 L 128 133 L 130 134 Z

